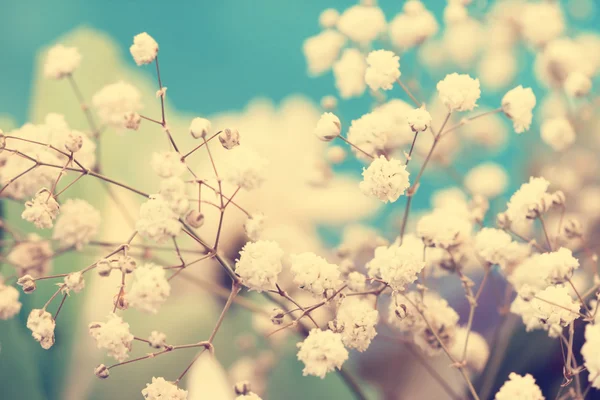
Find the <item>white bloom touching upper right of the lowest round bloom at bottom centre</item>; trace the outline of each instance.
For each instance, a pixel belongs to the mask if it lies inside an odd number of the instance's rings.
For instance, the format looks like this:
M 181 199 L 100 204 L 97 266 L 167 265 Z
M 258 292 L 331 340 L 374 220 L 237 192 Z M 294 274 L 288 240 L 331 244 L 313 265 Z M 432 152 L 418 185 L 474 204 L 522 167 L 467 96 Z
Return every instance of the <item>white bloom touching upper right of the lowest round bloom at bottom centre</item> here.
M 338 310 L 336 321 L 343 326 L 341 335 L 344 345 L 363 352 L 377 335 L 375 326 L 379 321 L 379 312 L 368 300 L 346 297 Z

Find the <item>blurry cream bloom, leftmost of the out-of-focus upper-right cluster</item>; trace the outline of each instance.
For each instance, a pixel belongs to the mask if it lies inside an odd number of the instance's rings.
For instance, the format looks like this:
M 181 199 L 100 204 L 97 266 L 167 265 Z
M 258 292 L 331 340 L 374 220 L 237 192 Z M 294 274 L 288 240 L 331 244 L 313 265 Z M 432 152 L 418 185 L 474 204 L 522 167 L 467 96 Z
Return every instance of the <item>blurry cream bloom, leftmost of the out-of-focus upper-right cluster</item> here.
M 304 41 L 303 50 L 308 72 L 320 75 L 331 68 L 346 43 L 344 35 L 333 29 L 326 29 Z

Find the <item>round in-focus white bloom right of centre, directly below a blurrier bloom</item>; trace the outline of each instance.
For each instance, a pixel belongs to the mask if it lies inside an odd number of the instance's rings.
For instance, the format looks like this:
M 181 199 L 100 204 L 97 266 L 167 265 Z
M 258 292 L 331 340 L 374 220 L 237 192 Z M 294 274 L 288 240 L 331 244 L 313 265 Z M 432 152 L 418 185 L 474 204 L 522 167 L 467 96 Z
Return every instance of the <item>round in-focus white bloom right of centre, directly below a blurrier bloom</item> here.
M 373 196 L 384 203 L 394 202 L 410 186 L 406 165 L 394 158 L 384 156 L 375 158 L 368 168 L 363 169 L 360 190 L 367 196 Z

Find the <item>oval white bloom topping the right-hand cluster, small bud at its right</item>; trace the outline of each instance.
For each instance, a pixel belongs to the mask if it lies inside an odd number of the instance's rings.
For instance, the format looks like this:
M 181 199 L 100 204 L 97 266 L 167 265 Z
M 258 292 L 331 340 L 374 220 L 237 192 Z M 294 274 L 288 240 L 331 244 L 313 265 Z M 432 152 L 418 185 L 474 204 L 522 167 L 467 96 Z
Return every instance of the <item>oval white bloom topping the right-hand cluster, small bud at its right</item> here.
M 548 210 L 552 204 L 551 195 L 546 191 L 550 183 L 544 178 L 530 177 L 510 198 L 506 215 L 511 221 L 535 218 L 538 213 Z

